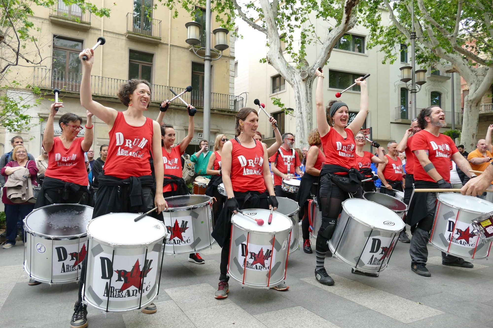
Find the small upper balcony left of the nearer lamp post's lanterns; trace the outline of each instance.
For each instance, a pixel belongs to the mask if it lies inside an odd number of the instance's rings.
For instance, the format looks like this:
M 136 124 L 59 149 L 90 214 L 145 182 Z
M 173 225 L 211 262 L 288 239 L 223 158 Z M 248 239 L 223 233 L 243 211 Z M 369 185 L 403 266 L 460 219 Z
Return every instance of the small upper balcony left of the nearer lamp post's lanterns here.
M 129 12 L 127 14 L 127 33 L 129 39 L 147 42 L 161 42 L 161 21 L 147 15 Z

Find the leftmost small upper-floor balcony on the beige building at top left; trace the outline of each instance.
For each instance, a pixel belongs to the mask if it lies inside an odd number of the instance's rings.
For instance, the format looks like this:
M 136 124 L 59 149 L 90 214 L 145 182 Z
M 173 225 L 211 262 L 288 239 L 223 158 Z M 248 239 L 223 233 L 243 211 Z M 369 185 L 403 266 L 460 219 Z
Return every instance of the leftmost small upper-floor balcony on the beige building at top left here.
M 91 12 L 82 10 L 76 4 L 65 4 L 58 1 L 51 9 L 50 22 L 70 29 L 88 31 L 91 28 Z

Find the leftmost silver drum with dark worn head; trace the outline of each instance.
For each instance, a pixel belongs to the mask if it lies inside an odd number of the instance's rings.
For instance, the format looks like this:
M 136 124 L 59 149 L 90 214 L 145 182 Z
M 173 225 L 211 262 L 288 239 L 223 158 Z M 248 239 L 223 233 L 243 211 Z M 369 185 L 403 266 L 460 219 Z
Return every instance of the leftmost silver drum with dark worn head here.
M 48 284 L 75 282 L 87 254 L 86 226 L 93 208 L 53 204 L 36 208 L 24 219 L 24 270 Z

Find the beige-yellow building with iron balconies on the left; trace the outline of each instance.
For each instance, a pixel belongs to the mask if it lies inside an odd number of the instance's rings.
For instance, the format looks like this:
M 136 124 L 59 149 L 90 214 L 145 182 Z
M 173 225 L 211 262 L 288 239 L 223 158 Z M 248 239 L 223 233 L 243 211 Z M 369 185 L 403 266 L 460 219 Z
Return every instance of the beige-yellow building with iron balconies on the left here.
M 204 61 L 185 42 L 185 23 L 197 21 L 202 24 L 201 46 L 205 46 L 205 14 L 190 17 L 186 11 L 179 10 L 178 17 L 173 18 L 173 12 L 160 3 L 157 9 L 151 9 L 152 0 L 122 0 L 116 2 L 116 5 L 114 1 L 102 0 L 98 5 L 110 7 L 111 14 L 110 18 L 99 18 L 90 12 L 82 13 L 76 5 L 66 6 L 63 1 L 55 2 L 51 9 L 35 7 L 35 16 L 32 18 L 35 27 L 41 29 L 38 44 L 46 60 L 37 67 L 15 67 L 9 78 L 21 80 L 22 77 L 25 84 L 32 83 L 43 92 L 62 89 L 61 99 L 65 108 L 59 111 L 57 117 L 66 112 L 75 113 L 84 119 L 84 125 L 86 110 L 79 101 L 82 65 L 78 54 L 82 49 L 91 48 L 98 37 L 103 36 L 106 44 L 95 50 L 95 63 L 91 72 L 93 98 L 105 106 L 124 110 L 125 107 L 117 99 L 118 87 L 130 78 L 147 79 L 152 84 L 152 103 L 144 115 L 155 119 L 161 101 L 173 97 L 170 88 L 179 93 L 191 85 L 193 91 L 182 98 L 196 106 L 198 112 L 195 115 L 195 136 L 187 153 L 198 150 L 203 132 Z M 152 19 L 147 18 L 147 12 Z M 214 17 L 215 13 L 211 16 Z M 215 21 L 212 22 L 211 31 L 218 27 Z M 228 44 L 229 49 L 223 52 L 222 57 L 212 62 L 212 143 L 215 133 L 234 135 L 234 116 L 244 102 L 242 97 L 234 95 L 234 37 L 228 35 Z M 212 49 L 213 46 L 214 35 L 211 34 Z M 203 50 L 198 50 L 198 53 L 204 55 Z M 19 96 L 18 91 L 7 92 Z M 21 96 L 28 98 L 30 93 L 27 91 Z M 53 98 L 51 93 L 42 99 L 41 105 L 29 110 L 34 123 L 37 118 L 47 118 Z M 108 142 L 108 129 L 101 120 L 95 121 L 93 148 L 97 155 L 100 146 Z M 179 100 L 170 106 L 164 121 L 175 126 L 177 142 L 187 134 L 188 115 Z M 61 132 L 57 123 L 56 118 L 55 134 Z M 28 151 L 35 157 L 40 154 L 44 128 L 45 123 L 42 122 L 30 131 L 20 133 Z M 84 130 L 80 135 L 84 134 Z M 11 150 L 10 139 L 14 135 L 16 133 L 0 134 L 2 153 Z

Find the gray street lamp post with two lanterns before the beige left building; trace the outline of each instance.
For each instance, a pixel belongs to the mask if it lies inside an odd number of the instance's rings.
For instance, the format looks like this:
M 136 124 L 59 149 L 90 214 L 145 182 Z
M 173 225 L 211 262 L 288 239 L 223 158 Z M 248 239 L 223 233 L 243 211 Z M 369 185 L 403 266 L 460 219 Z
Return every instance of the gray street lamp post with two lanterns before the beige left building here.
M 185 24 L 187 28 L 186 43 L 192 46 L 193 52 L 200 58 L 204 59 L 204 139 L 211 139 L 211 62 L 218 60 L 222 56 L 223 50 L 229 48 L 227 44 L 227 34 L 229 31 L 224 28 L 218 28 L 212 31 L 214 33 L 215 45 L 213 50 L 218 57 L 212 58 L 211 56 L 211 0 L 207 0 L 206 3 L 206 40 L 205 47 L 201 47 L 198 50 L 205 49 L 204 57 L 197 54 L 195 46 L 200 44 L 200 27 L 198 22 L 188 22 Z M 199 35 L 197 35 L 199 32 Z M 221 53 L 217 51 L 219 50 Z

